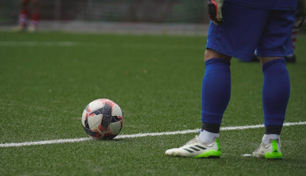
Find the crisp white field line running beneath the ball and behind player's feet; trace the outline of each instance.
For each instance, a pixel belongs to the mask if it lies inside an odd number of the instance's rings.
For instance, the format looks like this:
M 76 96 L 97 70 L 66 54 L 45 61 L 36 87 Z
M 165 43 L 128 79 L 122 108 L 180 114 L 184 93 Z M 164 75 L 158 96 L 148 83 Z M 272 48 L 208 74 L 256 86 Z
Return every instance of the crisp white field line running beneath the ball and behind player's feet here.
M 287 122 L 284 123 L 283 126 L 292 126 L 292 125 L 306 125 L 306 122 Z M 221 127 L 221 131 L 228 130 L 245 130 L 252 128 L 263 128 L 264 125 L 246 125 L 246 126 L 234 126 L 234 127 Z M 194 130 L 182 130 L 182 131 L 171 131 L 171 132 L 161 132 L 161 133 L 137 133 L 137 134 L 126 134 L 119 135 L 116 139 L 123 138 L 137 138 L 137 137 L 145 137 L 145 136 L 162 136 L 162 135 L 175 135 L 175 134 L 187 134 L 187 133 L 197 133 L 199 129 Z M 55 140 L 47 140 L 47 141 L 36 141 L 36 142 L 21 142 L 21 143 L 4 143 L 0 144 L 0 147 L 19 147 L 19 146 L 28 146 L 28 145 L 43 145 L 43 144 L 56 144 L 56 143 L 67 143 L 67 142 L 81 142 L 93 140 L 89 137 L 83 138 L 75 138 L 75 139 L 55 139 Z

